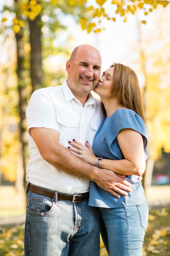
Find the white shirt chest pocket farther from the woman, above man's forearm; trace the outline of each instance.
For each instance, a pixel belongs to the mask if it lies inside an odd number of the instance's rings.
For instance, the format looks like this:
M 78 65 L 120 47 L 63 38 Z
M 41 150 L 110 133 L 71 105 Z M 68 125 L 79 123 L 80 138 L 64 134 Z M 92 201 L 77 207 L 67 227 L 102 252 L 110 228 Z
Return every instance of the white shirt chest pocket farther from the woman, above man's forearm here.
M 68 140 L 72 140 L 76 135 L 77 120 L 66 116 L 57 116 L 57 122 L 60 129 L 59 143 L 68 143 Z

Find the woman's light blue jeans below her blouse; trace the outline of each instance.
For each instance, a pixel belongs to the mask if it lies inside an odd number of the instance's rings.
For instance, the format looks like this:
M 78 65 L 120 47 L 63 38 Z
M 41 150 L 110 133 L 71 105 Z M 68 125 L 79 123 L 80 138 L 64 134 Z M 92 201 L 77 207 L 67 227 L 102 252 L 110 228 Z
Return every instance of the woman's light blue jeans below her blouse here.
M 121 208 L 99 208 L 101 236 L 110 256 L 142 256 L 148 225 L 147 202 Z

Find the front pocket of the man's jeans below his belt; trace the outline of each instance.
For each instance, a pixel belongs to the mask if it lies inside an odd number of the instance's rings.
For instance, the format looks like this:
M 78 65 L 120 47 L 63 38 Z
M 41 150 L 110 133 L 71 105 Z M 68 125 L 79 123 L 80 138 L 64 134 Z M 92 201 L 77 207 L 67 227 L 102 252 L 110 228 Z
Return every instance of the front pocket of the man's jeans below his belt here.
M 38 194 L 32 194 L 30 199 L 29 213 L 33 215 L 45 215 L 54 208 L 54 200 Z

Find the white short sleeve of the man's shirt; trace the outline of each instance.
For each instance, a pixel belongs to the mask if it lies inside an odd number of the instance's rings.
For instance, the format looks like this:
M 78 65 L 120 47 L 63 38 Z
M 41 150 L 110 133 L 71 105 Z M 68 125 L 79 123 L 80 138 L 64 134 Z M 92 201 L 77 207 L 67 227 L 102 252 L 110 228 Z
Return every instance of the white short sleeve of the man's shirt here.
M 31 127 L 44 127 L 59 131 L 54 104 L 46 88 L 33 92 L 26 110 L 28 133 Z

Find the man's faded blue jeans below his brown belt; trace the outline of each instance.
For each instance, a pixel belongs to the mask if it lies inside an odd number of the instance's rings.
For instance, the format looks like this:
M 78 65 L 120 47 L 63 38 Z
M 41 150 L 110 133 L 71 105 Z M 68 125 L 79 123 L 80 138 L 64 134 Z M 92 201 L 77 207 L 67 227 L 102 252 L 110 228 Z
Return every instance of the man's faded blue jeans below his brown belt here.
M 99 256 L 99 211 L 28 190 L 24 240 L 25 256 Z

